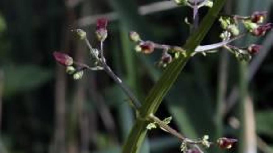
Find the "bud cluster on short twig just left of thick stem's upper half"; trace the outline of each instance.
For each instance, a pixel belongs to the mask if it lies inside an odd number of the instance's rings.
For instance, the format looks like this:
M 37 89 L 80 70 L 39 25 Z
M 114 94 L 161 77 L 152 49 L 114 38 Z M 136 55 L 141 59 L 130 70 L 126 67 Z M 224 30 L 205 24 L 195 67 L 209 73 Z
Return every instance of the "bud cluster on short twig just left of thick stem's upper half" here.
M 155 49 L 163 50 L 160 61 L 158 62 L 159 66 L 166 67 L 173 61 L 173 57 L 169 52 L 182 52 L 179 47 L 171 47 L 169 45 L 161 45 L 154 43 L 152 41 L 143 41 L 141 40 L 139 34 L 135 31 L 129 33 L 130 40 L 137 43 L 135 50 L 143 54 L 151 54 Z M 180 49 L 180 50 L 179 50 Z M 177 54 L 175 54 L 177 55 Z

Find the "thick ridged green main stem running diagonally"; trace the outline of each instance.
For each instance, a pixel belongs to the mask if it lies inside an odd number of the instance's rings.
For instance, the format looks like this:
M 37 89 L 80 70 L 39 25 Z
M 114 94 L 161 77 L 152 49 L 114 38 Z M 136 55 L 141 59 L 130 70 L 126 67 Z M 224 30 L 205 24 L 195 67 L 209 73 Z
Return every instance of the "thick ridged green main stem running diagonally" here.
M 127 141 L 123 147 L 123 153 L 136 153 L 144 140 L 145 134 L 147 132 L 146 126 L 148 122 L 145 120 L 150 114 L 154 114 L 159 105 L 161 104 L 164 96 L 172 87 L 173 83 L 176 81 L 181 70 L 184 68 L 188 60 L 190 59 L 191 53 L 194 52 L 195 48 L 201 43 L 210 27 L 217 18 L 218 13 L 222 9 L 226 0 L 216 0 L 214 1 L 214 6 L 209 10 L 208 14 L 202 20 L 199 28 L 193 33 L 192 36 L 187 40 L 184 45 L 184 49 L 187 50 L 187 56 L 182 55 L 175 61 L 173 61 L 164 71 L 163 75 L 154 85 L 154 87 L 149 92 L 146 97 L 143 106 L 140 109 L 137 121 L 131 130 Z

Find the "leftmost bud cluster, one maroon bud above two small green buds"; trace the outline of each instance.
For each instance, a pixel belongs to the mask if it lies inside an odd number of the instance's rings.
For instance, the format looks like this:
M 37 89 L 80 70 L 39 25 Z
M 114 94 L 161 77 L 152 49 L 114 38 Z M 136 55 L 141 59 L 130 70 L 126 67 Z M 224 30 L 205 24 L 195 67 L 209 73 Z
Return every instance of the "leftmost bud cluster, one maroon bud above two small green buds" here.
M 66 73 L 73 76 L 73 79 L 78 80 L 83 77 L 83 68 L 77 67 L 75 68 L 75 64 L 73 62 L 73 58 L 65 53 L 54 52 L 53 56 L 55 60 L 63 65 L 66 66 Z

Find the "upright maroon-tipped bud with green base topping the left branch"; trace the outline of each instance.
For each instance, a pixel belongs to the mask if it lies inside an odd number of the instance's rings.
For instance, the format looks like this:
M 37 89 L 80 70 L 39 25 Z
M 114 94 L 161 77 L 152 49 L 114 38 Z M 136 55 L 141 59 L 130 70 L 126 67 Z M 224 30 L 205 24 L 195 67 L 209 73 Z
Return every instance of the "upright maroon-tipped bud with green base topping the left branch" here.
M 107 38 L 107 24 L 108 21 L 106 18 L 101 18 L 97 20 L 97 27 L 96 27 L 96 36 L 99 41 L 104 41 Z

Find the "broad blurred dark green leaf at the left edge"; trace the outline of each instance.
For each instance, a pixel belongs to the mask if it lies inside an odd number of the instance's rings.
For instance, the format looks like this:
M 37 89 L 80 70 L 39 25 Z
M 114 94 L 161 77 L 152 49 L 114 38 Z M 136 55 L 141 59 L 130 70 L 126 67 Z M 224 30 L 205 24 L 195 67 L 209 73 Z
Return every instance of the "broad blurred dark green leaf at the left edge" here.
M 4 96 L 33 90 L 52 77 L 50 70 L 34 65 L 5 67 L 4 75 Z

